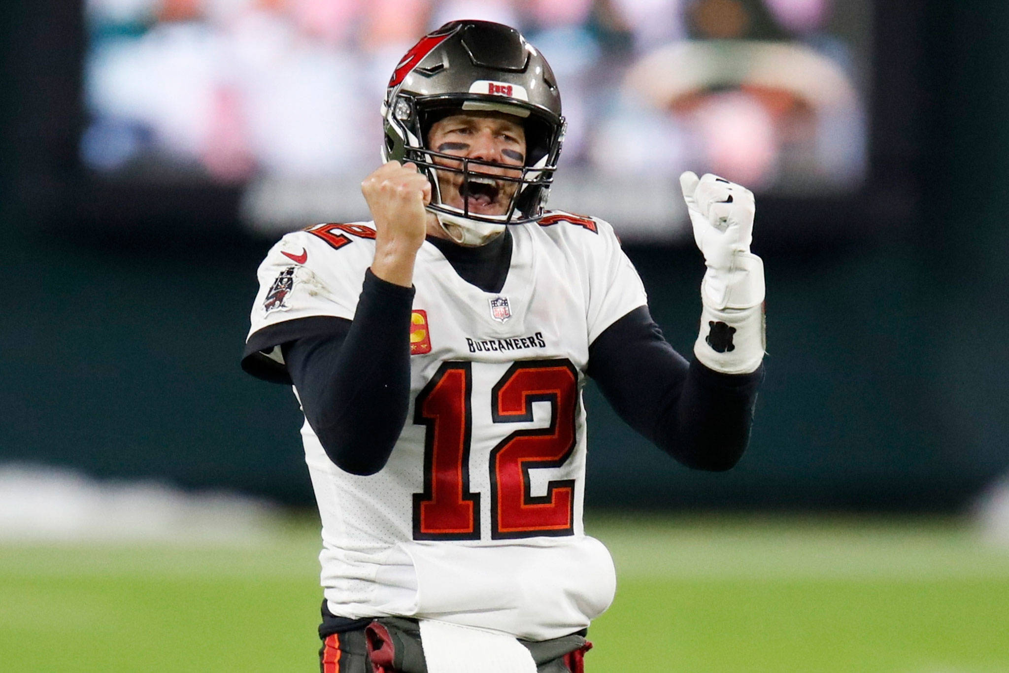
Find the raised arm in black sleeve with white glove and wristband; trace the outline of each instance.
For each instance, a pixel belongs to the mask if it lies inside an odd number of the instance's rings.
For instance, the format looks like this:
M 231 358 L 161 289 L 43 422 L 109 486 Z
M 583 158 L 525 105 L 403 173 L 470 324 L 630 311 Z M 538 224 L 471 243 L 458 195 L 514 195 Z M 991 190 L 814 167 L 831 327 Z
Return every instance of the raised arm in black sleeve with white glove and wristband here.
M 726 180 L 680 179 L 707 270 L 688 363 L 640 307 L 589 348 L 588 374 L 631 427 L 689 467 L 725 470 L 750 440 L 764 375 L 764 265 L 750 252 L 753 194 Z

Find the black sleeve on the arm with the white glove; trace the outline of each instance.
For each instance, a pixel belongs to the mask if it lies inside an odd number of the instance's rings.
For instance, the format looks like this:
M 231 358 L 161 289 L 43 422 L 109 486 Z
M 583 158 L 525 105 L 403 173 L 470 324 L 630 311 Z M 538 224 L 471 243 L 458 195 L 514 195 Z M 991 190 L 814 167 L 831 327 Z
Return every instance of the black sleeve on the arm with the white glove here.
M 687 467 L 722 471 L 750 441 L 764 366 L 723 374 L 687 362 L 639 307 L 592 342 L 587 373 L 620 417 L 663 451 Z

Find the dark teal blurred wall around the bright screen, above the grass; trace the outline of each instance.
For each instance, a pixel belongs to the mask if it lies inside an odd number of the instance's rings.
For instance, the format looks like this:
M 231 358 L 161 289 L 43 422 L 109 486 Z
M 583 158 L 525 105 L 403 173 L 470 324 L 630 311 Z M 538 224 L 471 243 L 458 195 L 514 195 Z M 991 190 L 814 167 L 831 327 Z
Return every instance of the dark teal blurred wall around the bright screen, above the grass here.
M 238 368 L 272 241 L 242 232 L 237 190 L 84 175 L 80 7 L 2 11 L 0 464 L 311 503 L 291 390 Z M 749 453 L 681 468 L 590 387 L 590 503 L 952 511 L 1006 470 L 1006 35 L 999 3 L 877 3 L 867 188 L 758 201 L 769 355 Z M 699 253 L 628 253 L 689 352 Z

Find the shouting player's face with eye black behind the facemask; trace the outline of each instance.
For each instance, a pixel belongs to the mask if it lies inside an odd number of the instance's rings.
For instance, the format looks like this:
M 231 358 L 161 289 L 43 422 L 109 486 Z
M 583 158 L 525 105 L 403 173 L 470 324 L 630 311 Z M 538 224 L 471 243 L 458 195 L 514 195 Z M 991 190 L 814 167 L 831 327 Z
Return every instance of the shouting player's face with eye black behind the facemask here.
M 441 201 L 463 210 L 463 195 L 469 197 L 469 212 L 477 215 L 504 215 L 519 183 L 495 180 L 495 176 L 522 177 L 526 162 L 526 131 L 518 117 L 500 112 L 460 112 L 435 122 L 428 132 L 428 147 L 453 156 L 483 159 L 519 170 L 489 165 L 469 166 L 469 181 L 463 174 L 438 172 Z M 436 163 L 462 167 L 462 161 L 436 158 Z M 474 175 L 478 174 L 478 175 Z

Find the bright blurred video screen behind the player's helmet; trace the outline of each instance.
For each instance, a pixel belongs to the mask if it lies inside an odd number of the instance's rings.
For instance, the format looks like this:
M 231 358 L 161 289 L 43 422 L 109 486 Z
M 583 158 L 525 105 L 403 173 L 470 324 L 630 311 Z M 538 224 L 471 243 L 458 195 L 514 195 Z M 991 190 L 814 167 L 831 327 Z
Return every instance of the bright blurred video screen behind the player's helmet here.
M 243 185 L 260 229 L 368 219 L 389 74 L 457 18 L 516 26 L 558 79 L 550 205 L 669 234 L 676 178 L 857 190 L 871 0 L 87 0 L 81 157 L 109 180 Z

